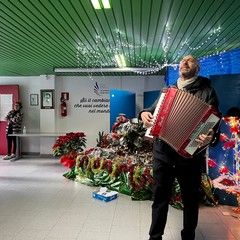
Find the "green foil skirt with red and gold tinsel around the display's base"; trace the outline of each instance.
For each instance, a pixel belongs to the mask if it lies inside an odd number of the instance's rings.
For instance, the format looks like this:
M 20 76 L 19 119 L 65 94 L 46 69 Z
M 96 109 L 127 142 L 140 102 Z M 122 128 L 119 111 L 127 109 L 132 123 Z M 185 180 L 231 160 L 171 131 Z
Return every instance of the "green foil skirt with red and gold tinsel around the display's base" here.
M 91 155 L 94 149 L 86 150 L 76 158 L 76 165 L 64 174 L 68 179 L 88 186 L 104 186 L 131 196 L 133 200 L 151 200 L 153 194 L 153 172 L 151 166 L 121 162 L 115 159 Z M 202 176 L 202 201 L 206 205 L 217 205 L 212 195 L 211 179 Z M 183 209 L 180 186 L 175 180 L 170 204 Z

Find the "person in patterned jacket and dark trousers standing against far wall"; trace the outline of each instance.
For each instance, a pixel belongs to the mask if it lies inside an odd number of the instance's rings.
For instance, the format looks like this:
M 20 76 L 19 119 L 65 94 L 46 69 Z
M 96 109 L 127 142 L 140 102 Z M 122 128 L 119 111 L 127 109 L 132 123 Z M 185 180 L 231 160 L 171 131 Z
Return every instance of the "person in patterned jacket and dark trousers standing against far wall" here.
M 23 113 L 21 112 L 21 109 L 21 102 L 15 102 L 14 109 L 9 111 L 5 117 L 5 120 L 7 121 L 6 134 L 8 154 L 3 158 L 4 160 L 9 160 L 16 157 L 16 136 L 9 136 L 9 134 L 22 132 Z

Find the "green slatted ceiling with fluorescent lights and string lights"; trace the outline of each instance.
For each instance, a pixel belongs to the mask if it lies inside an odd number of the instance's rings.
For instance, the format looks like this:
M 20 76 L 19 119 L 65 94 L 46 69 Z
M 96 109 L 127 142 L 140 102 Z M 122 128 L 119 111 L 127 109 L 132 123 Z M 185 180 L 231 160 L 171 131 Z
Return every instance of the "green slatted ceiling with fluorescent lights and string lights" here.
M 240 48 L 240 0 L 111 0 L 111 6 L 0 0 L 0 76 L 117 67 L 115 53 L 126 56 L 128 67 L 157 71 L 186 54 L 199 58 Z

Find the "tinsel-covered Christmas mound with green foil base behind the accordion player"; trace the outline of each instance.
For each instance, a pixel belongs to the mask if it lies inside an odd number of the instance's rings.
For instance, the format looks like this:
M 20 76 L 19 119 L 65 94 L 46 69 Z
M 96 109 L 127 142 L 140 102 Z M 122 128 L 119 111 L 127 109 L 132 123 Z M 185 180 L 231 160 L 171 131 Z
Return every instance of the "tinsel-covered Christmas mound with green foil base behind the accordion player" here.
M 133 200 L 151 200 L 152 142 L 144 137 L 145 133 L 146 128 L 142 122 L 137 119 L 129 120 L 124 114 L 120 114 L 110 133 L 99 133 L 97 147 L 78 152 L 72 160 L 69 160 L 68 154 L 61 158 L 60 163 L 70 168 L 64 176 L 89 186 L 107 187 L 109 190 L 129 195 Z M 65 138 L 62 138 L 60 137 L 53 147 L 55 153 L 59 152 L 58 147 L 62 146 L 59 141 L 64 139 L 63 142 L 66 142 Z M 211 179 L 204 174 L 201 187 L 204 204 L 217 205 L 212 192 Z M 183 208 L 177 180 L 174 182 L 170 204 L 179 209 Z

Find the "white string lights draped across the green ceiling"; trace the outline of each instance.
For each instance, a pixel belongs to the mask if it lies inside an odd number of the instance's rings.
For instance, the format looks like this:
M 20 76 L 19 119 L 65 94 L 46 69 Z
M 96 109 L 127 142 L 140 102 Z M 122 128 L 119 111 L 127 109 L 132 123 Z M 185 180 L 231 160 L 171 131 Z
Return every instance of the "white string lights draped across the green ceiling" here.
M 177 56 L 169 62 L 167 59 L 167 54 L 169 53 L 169 46 L 171 42 L 171 31 L 168 26 L 166 26 L 165 37 L 163 38 L 163 42 L 161 43 L 162 52 L 163 52 L 163 60 L 159 62 L 156 59 L 156 55 L 153 56 L 153 51 L 150 46 L 146 43 L 142 44 L 132 44 L 129 42 L 125 33 L 123 33 L 120 29 L 115 29 L 115 38 L 110 41 L 109 39 L 103 38 L 100 35 L 96 35 L 94 44 L 86 44 L 79 43 L 77 46 L 77 65 L 78 68 L 81 66 L 87 66 L 89 68 L 88 74 L 92 79 L 91 69 L 101 68 L 101 75 L 104 77 L 104 68 L 106 67 L 118 67 L 114 56 L 116 54 L 122 54 L 125 56 L 128 67 L 136 66 L 138 68 L 145 68 L 148 70 L 144 71 L 133 71 L 136 74 L 140 75 L 148 75 L 155 74 L 162 70 L 165 67 L 172 66 L 176 70 L 179 62 L 179 58 L 182 55 L 183 47 L 188 47 L 191 51 L 199 50 L 204 45 L 208 44 L 210 40 L 215 38 L 215 54 L 219 54 L 218 52 L 218 37 L 220 34 L 221 28 L 217 28 L 216 30 L 211 30 L 209 32 L 209 36 L 207 40 L 200 43 L 197 47 L 191 46 L 190 39 L 185 40 L 177 53 Z M 141 49 L 145 48 L 147 53 L 143 57 L 141 54 Z M 146 58 L 146 56 L 148 56 Z

